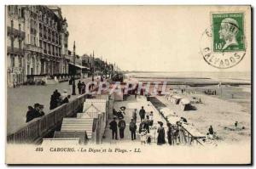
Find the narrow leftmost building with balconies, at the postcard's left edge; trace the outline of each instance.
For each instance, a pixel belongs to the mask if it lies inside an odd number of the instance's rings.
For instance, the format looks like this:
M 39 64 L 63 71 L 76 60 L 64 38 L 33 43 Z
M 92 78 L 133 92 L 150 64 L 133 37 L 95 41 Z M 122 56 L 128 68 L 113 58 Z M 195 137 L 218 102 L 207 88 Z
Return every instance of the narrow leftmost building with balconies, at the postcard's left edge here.
M 7 53 L 7 84 L 10 87 L 25 82 L 25 20 L 21 7 L 8 6 L 6 10 L 6 53 Z

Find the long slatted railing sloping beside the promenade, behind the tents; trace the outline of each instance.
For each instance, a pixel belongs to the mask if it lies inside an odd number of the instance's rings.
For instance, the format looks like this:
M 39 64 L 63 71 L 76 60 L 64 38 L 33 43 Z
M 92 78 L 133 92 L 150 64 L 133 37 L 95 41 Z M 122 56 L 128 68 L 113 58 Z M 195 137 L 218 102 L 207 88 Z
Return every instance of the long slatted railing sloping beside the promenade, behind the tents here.
M 85 101 L 85 94 L 77 99 L 71 100 L 67 104 L 51 110 L 49 114 L 41 118 L 29 121 L 26 126 L 20 127 L 17 132 L 10 133 L 7 136 L 8 143 L 34 143 L 38 138 L 43 138 L 46 134 L 61 125 L 63 117 L 73 116 Z

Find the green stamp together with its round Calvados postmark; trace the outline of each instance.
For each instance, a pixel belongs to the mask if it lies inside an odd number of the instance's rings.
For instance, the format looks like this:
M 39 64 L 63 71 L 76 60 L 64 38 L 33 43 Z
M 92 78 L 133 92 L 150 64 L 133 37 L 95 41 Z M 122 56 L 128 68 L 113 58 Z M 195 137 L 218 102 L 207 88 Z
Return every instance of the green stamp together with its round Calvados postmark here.
M 201 37 L 201 54 L 207 64 L 227 69 L 246 54 L 244 13 L 212 13 L 212 25 Z

